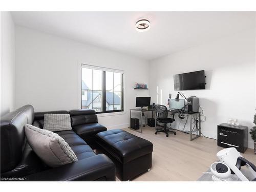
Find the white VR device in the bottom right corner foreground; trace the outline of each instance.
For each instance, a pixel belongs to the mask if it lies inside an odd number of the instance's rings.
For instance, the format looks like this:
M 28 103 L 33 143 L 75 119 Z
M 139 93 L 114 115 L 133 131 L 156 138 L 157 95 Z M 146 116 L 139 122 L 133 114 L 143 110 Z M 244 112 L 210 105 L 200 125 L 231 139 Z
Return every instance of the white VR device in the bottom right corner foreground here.
M 212 163 L 210 166 L 214 181 L 250 181 L 241 172 L 241 167 L 246 166 L 256 181 L 256 166 L 243 158 L 234 147 L 225 148 L 217 153 L 220 162 Z

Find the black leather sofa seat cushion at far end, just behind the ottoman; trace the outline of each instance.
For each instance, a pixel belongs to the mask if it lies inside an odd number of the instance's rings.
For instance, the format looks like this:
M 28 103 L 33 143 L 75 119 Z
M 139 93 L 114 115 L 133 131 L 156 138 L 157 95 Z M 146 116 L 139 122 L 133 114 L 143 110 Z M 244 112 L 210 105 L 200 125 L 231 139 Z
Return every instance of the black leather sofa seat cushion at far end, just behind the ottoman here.
M 99 132 L 106 131 L 106 127 L 99 123 L 88 123 L 73 126 L 72 128 L 81 138 L 94 136 Z

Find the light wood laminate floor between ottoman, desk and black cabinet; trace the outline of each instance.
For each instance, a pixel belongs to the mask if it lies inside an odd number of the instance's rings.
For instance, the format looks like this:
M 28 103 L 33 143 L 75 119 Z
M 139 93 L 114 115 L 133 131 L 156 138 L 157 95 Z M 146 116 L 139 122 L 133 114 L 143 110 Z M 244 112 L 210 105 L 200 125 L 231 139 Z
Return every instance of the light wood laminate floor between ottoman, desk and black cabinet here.
M 216 154 L 223 148 L 217 141 L 199 137 L 189 141 L 189 134 L 177 131 L 177 135 L 159 133 L 154 127 L 143 127 L 143 134 L 123 129 L 138 137 L 151 141 L 154 145 L 152 169 L 132 181 L 196 181 L 211 163 L 218 161 Z M 242 156 L 256 164 L 256 155 L 248 148 Z

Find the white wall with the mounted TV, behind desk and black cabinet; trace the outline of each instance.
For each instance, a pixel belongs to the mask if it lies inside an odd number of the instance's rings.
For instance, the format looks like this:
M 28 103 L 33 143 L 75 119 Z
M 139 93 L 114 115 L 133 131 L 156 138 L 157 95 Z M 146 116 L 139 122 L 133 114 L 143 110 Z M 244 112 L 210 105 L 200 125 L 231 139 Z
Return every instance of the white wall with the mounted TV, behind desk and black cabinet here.
M 217 125 L 227 122 L 229 118 L 237 118 L 251 129 L 255 113 L 255 29 L 152 60 L 152 100 L 157 101 L 156 90 L 159 86 L 162 102 L 167 104 L 168 94 L 172 93 L 173 98 L 177 94 L 173 75 L 197 70 L 205 70 L 206 90 L 181 92 L 187 97 L 199 97 L 206 116 L 206 121 L 202 122 L 202 133 L 217 138 Z M 178 128 L 179 122 L 180 119 L 176 118 L 172 126 Z M 183 122 L 179 129 L 183 128 Z M 253 148 L 249 133 L 248 139 L 249 147 Z

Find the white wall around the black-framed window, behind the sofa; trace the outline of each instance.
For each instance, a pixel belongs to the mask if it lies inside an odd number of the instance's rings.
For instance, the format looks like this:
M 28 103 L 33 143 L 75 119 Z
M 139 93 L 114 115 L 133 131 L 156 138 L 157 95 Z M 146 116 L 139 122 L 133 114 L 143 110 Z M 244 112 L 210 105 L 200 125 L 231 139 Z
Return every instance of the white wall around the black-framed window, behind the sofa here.
M 78 63 L 124 70 L 125 114 L 99 117 L 107 127 L 129 123 L 136 96 L 135 82 L 148 83 L 148 62 L 94 46 L 16 26 L 15 108 L 32 104 L 36 112 L 80 109 Z

